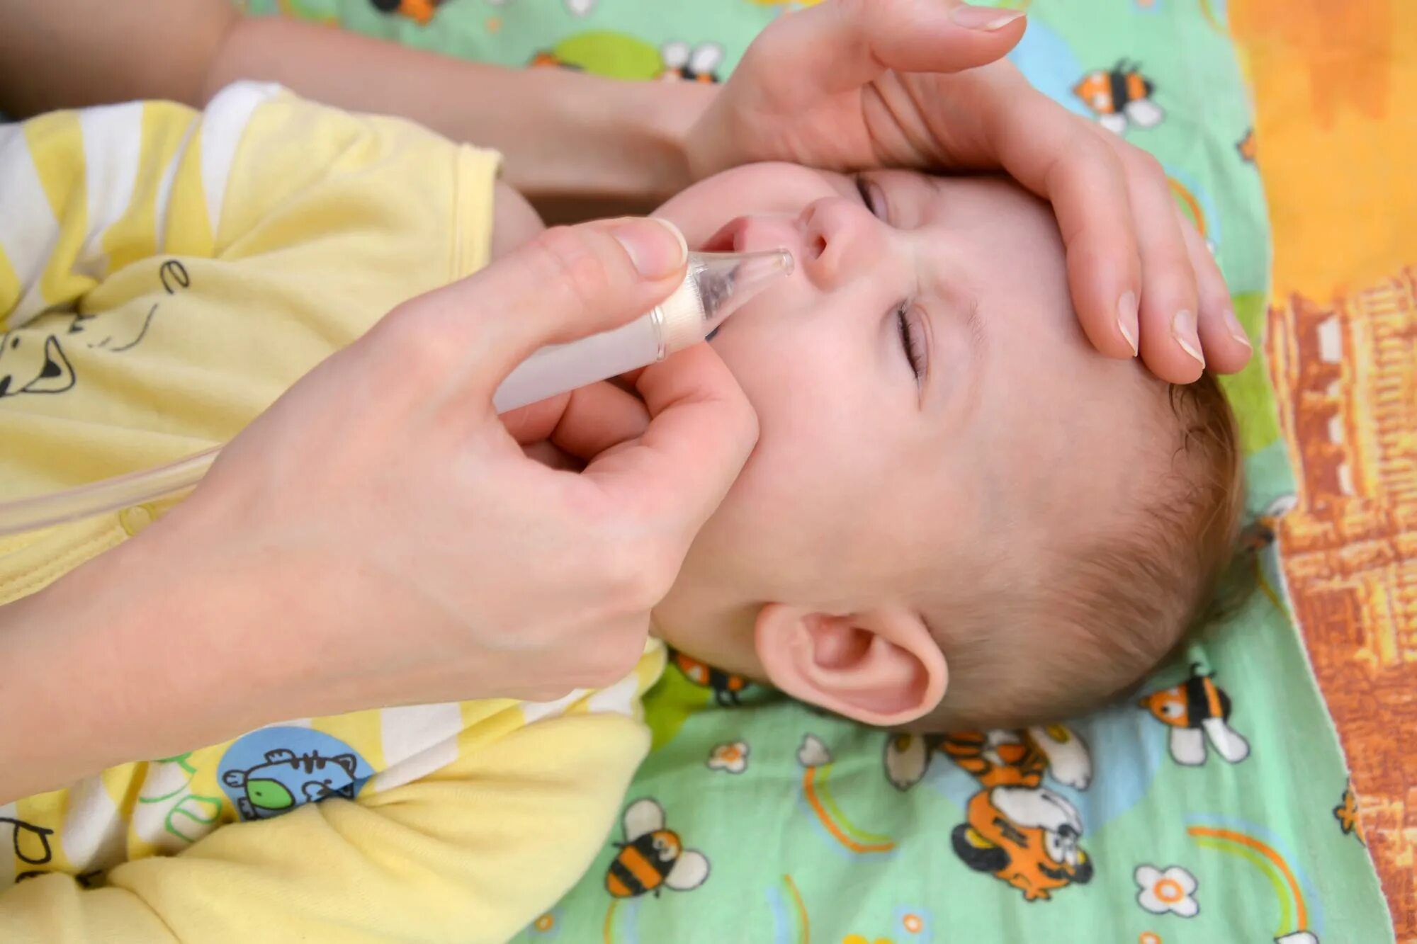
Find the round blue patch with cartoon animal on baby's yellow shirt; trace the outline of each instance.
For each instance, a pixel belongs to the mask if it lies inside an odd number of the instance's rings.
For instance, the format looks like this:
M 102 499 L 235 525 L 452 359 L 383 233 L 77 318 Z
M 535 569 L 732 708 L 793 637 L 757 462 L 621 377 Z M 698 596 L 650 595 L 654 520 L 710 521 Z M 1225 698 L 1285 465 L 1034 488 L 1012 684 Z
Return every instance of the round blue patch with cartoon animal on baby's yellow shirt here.
M 349 744 L 305 727 L 251 731 L 227 748 L 217 770 L 242 819 L 269 819 L 330 797 L 354 799 L 373 775 Z

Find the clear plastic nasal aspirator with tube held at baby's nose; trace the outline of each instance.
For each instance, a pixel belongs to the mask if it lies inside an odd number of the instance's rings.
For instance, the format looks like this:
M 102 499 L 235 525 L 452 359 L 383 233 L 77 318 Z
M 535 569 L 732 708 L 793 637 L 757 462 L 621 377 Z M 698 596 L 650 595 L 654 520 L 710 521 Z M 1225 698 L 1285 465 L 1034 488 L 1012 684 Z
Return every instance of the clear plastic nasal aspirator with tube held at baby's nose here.
M 614 330 L 567 344 L 550 344 L 519 364 L 497 387 L 497 412 L 646 367 L 697 344 L 779 276 L 792 272 L 792 254 L 690 252 L 684 281 L 652 312 Z M 221 446 L 167 465 L 112 479 L 0 502 L 0 534 L 30 532 L 106 512 L 116 512 L 193 488 Z

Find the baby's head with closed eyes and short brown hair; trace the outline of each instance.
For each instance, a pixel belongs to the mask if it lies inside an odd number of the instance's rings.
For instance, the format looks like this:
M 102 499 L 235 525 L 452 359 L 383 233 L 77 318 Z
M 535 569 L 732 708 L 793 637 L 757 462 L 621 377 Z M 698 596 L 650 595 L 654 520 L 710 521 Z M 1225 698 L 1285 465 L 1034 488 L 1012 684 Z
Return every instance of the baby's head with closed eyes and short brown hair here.
M 959 729 L 1097 707 L 1176 645 L 1231 549 L 1234 424 L 1209 376 L 1093 350 L 1049 207 L 757 164 L 659 214 L 798 259 L 713 342 L 761 438 L 656 609 L 673 646 L 866 723 Z

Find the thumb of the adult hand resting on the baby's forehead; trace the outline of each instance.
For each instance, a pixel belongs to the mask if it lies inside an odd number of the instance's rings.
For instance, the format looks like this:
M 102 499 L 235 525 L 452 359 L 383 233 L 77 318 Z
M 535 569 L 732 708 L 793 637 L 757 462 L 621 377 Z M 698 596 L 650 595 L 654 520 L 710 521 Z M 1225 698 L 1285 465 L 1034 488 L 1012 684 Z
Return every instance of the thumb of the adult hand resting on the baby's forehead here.
M 778 18 L 748 50 L 796 88 L 847 92 L 886 69 L 958 72 L 1003 58 L 1023 38 L 1023 11 L 939 0 L 828 0 Z

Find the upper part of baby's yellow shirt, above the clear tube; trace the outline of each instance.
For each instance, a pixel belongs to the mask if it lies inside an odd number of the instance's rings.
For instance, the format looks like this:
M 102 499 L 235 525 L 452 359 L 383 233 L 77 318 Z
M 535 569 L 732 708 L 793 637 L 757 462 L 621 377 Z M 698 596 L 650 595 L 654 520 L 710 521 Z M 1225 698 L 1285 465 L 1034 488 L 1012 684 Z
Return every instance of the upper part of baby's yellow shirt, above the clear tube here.
M 497 154 L 407 120 L 238 84 L 24 128 L 0 126 L 0 500 L 227 442 L 490 255 Z

